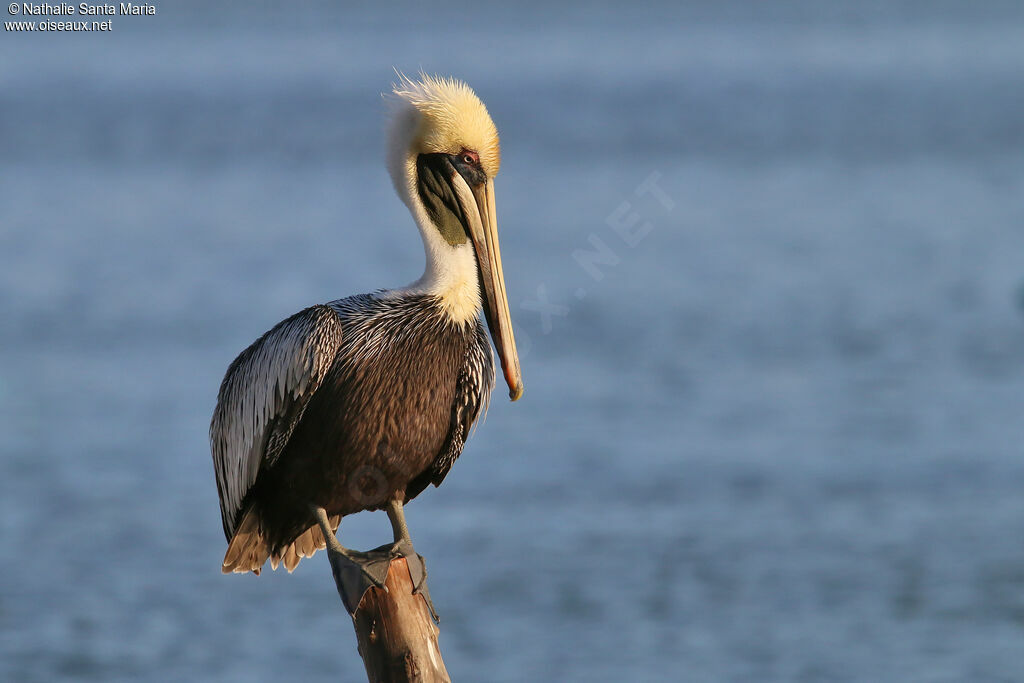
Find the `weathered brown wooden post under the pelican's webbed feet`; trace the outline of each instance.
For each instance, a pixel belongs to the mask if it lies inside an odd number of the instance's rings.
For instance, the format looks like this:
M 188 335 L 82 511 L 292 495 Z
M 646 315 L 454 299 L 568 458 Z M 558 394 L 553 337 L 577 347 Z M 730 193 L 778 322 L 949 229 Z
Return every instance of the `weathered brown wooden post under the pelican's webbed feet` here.
M 409 563 L 395 557 L 384 586 L 370 588 L 352 615 L 370 683 L 451 683 L 425 583 L 413 593 Z

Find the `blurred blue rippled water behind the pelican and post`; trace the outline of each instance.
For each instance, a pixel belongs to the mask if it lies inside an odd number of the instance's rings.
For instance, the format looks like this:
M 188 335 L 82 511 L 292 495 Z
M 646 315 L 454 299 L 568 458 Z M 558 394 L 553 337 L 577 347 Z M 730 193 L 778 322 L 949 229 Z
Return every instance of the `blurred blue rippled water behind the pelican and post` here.
M 457 680 L 1024 679 L 1019 5 L 159 11 L 0 44 L 0 678 L 362 676 L 322 556 L 220 575 L 206 430 L 419 274 L 422 66 L 503 133 L 526 381 L 409 509 Z

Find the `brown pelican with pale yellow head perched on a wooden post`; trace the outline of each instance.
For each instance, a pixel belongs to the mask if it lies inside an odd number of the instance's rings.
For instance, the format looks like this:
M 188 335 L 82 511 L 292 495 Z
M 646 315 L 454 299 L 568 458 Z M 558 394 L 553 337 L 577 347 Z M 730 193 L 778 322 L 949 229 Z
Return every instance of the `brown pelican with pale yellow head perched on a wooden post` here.
M 498 130 L 460 81 L 399 75 L 393 99 L 388 170 L 423 238 L 423 276 L 279 323 L 231 362 L 210 425 L 224 573 L 259 573 L 268 559 L 291 571 L 326 546 L 336 578 L 357 583 L 350 610 L 386 566 L 375 573 L 373 557 L 338 542 L 340 519 L 387 510 L 391 556 L 415 559 L 402 506 L 444 479 L 494 387 L 481 309 L 510 397 L 522 395 L 498 247 Z

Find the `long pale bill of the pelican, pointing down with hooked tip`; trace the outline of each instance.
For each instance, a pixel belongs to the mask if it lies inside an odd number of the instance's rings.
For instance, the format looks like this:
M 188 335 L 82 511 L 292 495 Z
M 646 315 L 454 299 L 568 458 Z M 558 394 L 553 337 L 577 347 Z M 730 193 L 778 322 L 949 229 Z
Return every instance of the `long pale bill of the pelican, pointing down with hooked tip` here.
M 456 172 L 452 178 L 463 216 L 466 218 L 469 238 L 476 251 L 476 263 L 483 285 L 483 312 L 490 329 L 490 338 L 501 358 L 505 382 L 509 385 L 509 398 L 517 400 L 522 395 L 522 372 L 519 353 L 512 334 L 512 316 L 509 313 L 505 275 L 502 272 L 502 252 L 498 246 L 498 218 L 495 213 L 495 181 L 490 178 L 475 187 Z

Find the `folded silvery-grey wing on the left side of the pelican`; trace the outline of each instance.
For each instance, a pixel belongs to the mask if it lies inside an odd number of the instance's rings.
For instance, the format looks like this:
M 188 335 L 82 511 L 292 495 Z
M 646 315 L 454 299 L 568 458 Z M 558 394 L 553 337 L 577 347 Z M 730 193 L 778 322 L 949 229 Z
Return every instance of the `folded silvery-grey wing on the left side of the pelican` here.
M 210 424 L 210 449 L 228 541 L 260 469 L 285 450 L 340 346 L 338 314 L 312 306 L 279 323 L 227 369 Z

